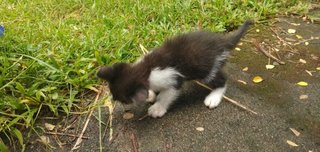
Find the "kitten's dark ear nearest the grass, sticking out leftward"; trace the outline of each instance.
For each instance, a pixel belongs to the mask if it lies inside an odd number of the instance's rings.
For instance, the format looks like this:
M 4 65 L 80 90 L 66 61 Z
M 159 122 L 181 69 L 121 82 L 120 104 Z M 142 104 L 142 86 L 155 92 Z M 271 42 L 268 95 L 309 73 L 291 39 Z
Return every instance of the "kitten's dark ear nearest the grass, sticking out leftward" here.
M 112 66 L 103 66 L 99 69 L 97 76 L 109 82 L 113 81 L 125 66 L 125 63 L 116 63 Z

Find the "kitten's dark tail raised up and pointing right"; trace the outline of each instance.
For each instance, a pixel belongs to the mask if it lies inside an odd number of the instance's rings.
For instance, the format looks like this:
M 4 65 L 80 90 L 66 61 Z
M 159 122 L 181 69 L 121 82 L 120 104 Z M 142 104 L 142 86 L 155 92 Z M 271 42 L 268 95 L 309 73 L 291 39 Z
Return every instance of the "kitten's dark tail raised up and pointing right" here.
M 254 22 L 252 20 L 247 20 L 240 26 L 236 31 L 231 32 L 226 35 L 227 44 L 226 47 L 228 49 L 233 49 L 240 39 L 246 34 L 249 26 L 252 25 Z

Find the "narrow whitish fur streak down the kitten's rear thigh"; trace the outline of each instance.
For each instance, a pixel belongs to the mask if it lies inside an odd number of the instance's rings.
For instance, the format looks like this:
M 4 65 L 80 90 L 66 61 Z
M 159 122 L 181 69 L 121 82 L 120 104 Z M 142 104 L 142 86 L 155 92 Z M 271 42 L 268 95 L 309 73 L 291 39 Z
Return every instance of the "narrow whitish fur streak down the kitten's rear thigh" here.
M 208 74 L 208 76 L 204 79 L 205 82 L 209 83 L 211 82 L 214 77 L 216 76 L 217 72 L 220 70 L 221 68 L 221 63 L 222 61 L 224 61 L 227 57 L 229 56 L 229 51 L 225 51 L 225 52 L 222 52 L 221 55 L 219 55 L 215 62 L 214 62 L 214 65 L 210 71 L 210 73 Z

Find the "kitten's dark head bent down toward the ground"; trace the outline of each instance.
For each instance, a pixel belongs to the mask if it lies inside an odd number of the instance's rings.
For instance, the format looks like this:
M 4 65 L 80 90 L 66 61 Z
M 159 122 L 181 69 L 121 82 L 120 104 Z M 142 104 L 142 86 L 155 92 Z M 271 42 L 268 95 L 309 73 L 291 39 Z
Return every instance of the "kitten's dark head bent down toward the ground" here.
M 125 104 L 143 102 L 148 98 L 147 82 L 134 73 L 131 65 L 116 63 L 100 68 L 98 77 L 108 81 L 114 100 Z

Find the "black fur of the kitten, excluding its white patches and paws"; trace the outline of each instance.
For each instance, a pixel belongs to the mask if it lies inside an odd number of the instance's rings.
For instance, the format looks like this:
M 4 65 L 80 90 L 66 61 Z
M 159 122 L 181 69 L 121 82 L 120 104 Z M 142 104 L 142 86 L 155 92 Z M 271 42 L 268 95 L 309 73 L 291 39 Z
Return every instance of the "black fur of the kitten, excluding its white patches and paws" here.
M 251 21 L 246 21 L 237 31 L 228 34 L 197 31 L 179 35 L 166 40 L 137 64 L 117 63 L 102 67 L 98 77 L 109 82 L 113 98 L 123 103 L 147 98 L 148 78 L 156 67 L 172 67 L 181 73 L 184 77 L 177 76 L 177 85 L 174 86 L 178 89 L 183 81 L 205 79 L 216 66 L 217 57 L 232 50 L 250 24 Z M 219 65 L 222 66 L 224 61 L 221 62 Z M 206 83 L 216 88 L 224 86 L 225 80 L 223 74 L 217 71 L 215 79 Z

